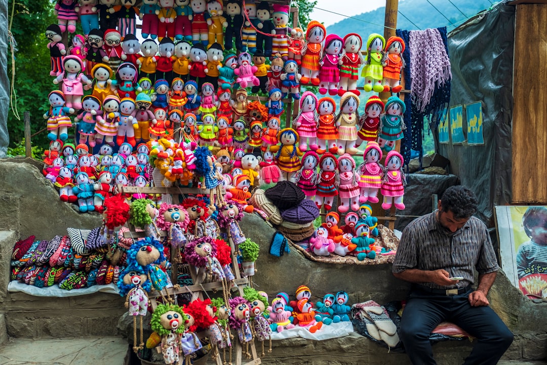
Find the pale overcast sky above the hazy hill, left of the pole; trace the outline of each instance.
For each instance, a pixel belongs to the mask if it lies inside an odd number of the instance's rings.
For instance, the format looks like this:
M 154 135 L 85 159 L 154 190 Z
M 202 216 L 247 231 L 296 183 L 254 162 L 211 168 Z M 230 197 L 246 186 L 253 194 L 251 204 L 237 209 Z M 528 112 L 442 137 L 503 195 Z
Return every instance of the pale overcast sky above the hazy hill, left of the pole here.
M 353 16 L 386 6 L 386 0 L 317 0 L 317 8 L 335 11 L 346 16 Z M 333 25 L 344 19 L 343 15 L 314 9 L 310 15 L 313 20 L 321 21 L 325 26 Z

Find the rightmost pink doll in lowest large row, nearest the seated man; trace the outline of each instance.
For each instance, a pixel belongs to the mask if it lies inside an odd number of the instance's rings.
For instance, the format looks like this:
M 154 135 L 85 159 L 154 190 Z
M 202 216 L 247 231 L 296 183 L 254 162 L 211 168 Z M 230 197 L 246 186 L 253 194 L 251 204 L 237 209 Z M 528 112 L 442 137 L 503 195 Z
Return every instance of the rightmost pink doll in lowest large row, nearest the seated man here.
M 405 194 L 406 178 L 403 172 L 404 159 L 401 154 L 391 150 L 386 156 L 386 173 L 382 179 L 380 193 L 383 195 L 382 209 L 391 208 L 394 200 L 395 208 L 404 210 L 403 196 Z

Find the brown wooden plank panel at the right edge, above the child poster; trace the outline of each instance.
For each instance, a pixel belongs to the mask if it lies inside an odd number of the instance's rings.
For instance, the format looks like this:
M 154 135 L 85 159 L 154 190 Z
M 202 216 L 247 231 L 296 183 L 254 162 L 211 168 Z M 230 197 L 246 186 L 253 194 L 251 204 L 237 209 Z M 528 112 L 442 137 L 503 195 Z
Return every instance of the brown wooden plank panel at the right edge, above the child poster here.
M 516 7 L 513 203 L 547 203 L 547 4 Z

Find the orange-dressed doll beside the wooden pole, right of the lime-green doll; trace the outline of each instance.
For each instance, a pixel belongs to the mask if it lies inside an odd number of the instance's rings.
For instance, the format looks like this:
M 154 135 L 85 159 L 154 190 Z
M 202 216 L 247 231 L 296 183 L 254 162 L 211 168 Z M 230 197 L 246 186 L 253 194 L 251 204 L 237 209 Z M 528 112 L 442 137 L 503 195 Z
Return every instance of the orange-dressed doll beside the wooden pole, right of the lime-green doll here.
M 386 42 L 385 55 L 382 59 L 383 66 L 383 91 L 399 92 L 401 86 L 401 68 L 405 67 L 405 61 L 401 53 L 405 51 L 405 42 L 400 37 L 389 37 Z

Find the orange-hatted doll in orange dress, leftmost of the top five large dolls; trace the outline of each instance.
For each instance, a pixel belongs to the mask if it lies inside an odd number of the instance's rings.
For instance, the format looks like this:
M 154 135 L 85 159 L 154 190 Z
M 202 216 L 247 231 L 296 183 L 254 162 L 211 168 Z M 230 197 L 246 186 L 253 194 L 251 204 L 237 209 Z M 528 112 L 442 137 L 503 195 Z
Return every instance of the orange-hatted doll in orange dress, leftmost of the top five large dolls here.
M 316 20 L 308 23 L 306 29 L 306 43 L 302 50 L 302 84 L 311 82 L 314 86 L 319 86 L 319 57 L 323 53 L 323 40 L 325 39 L 325 26 Z

